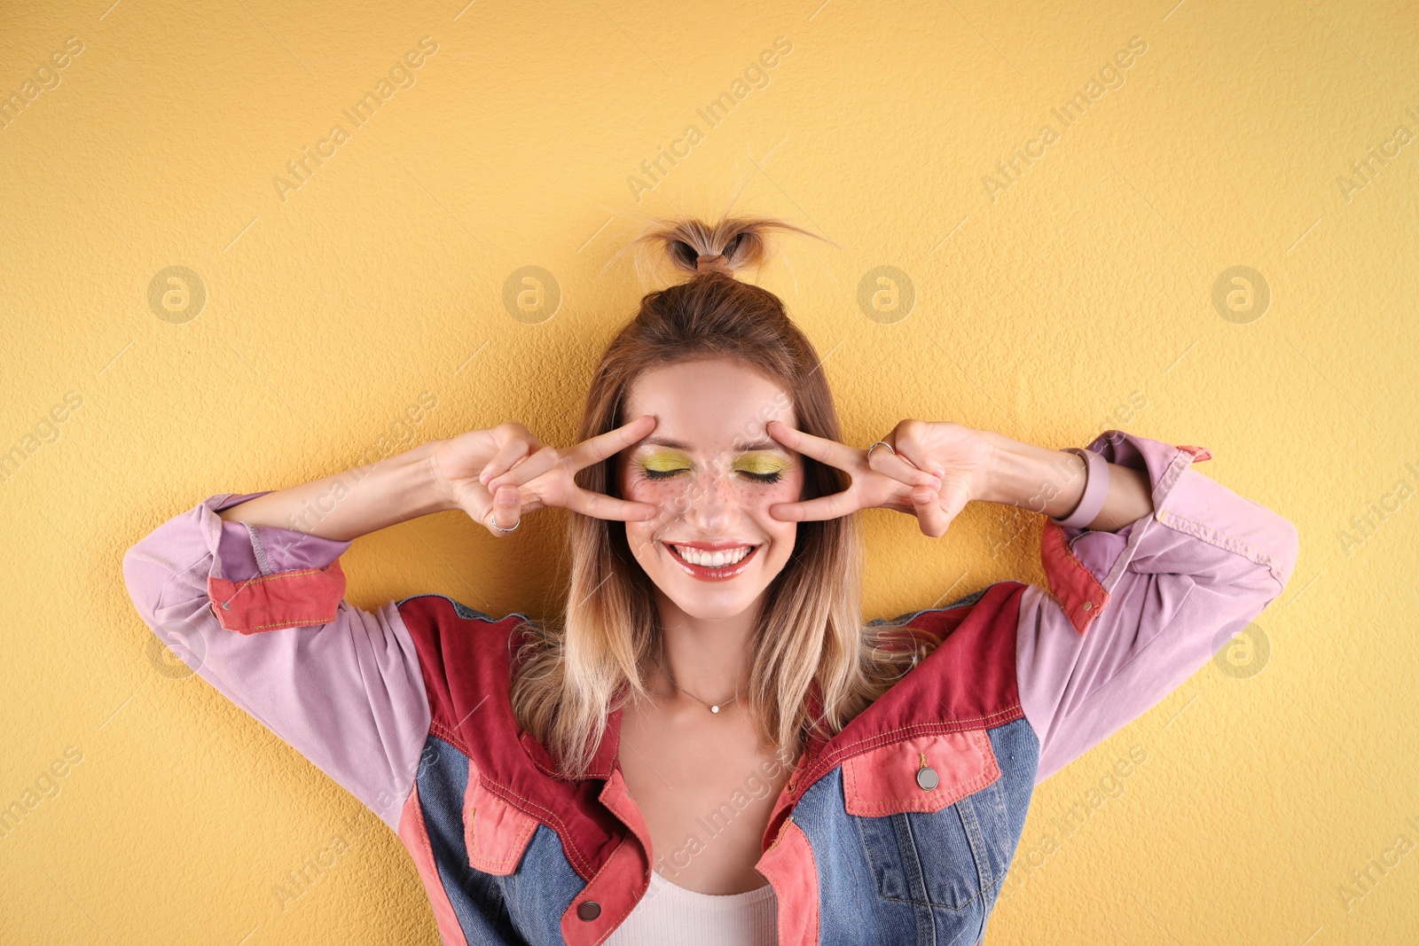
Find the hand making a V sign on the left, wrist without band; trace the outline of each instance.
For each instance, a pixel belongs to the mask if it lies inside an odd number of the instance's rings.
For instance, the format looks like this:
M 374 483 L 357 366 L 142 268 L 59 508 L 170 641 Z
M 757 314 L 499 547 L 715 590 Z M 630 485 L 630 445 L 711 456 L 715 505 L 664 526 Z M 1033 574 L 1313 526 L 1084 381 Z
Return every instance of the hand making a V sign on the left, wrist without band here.
M 558 450 L 522 424 L 508 421 L 444 441 L 433 455 L 433 469 L 451 502 L 498 538 L 507 535 L 499 528 L 514 529 L 524 515 L 545 506 L 597 519 L 650 519 L 656 506 L 583 489 L 576 485 L 575 475 L 640 441 L 654 427 L 656 418 L 646 414 Z

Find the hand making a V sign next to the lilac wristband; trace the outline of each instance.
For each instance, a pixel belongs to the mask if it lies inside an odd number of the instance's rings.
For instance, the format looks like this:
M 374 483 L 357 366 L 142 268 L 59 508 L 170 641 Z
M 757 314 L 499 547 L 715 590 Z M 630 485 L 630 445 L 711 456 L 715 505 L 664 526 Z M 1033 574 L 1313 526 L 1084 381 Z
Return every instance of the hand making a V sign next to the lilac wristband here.
M 805 502 L 772 506 L 775 519 L 803 522 L 836 519 L 858 509 L 895 509 L 917 516 L 922 533 L 945 535 L 965 505 L 983 495 L 990 445 L 981 431 L 949 421 L 904 420 L 883 437 L 891 450 L 847 447 L 793 430 L 782 421 L 766 424 L 769 437 L 819 462 L 844 471 L 851 484 L 841 492 Z

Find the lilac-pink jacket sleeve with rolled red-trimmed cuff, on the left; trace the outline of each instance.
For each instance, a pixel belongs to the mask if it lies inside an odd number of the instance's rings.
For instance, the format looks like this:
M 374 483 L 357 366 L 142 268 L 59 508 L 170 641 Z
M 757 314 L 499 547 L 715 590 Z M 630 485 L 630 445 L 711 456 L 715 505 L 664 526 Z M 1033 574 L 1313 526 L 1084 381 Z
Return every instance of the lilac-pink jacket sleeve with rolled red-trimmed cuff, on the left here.
M 184 664 L 399 830 L 429 735 L 394 603 L 345 600 L 349 542 L 223 522 L 263 494 L 219 494 L 123 555 L 143 621 Z

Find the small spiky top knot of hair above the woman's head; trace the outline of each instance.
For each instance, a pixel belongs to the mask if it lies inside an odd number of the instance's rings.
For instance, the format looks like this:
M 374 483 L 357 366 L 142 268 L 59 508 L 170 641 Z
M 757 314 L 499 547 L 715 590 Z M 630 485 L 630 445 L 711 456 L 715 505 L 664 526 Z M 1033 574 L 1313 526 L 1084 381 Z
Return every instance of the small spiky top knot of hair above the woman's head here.
M 772 217 L 725 217 L 717 224 L 687 217 L 651 220 L 627 248 L 639 251 L 637 269 L 644 269 L 644 258 L 650 254 L 651 269 L 660 268 L 657 262 L 668 261 L 675 274 L 690 274 L 691 279 L 734 279 L 741 269 L 759 268 L 769 260 L 769 235 L 773 231 L 822 240 L 815 233 Z

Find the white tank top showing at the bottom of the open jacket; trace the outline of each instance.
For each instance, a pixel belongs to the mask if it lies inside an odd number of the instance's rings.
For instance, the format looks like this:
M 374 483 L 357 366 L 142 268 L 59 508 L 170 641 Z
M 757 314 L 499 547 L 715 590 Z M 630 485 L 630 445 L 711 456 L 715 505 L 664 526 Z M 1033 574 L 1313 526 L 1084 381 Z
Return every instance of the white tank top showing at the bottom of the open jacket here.
M 775 946 L 779 902 L 773 888 L 700 894 L 650 872 L 650 888 L 606 946 Z

